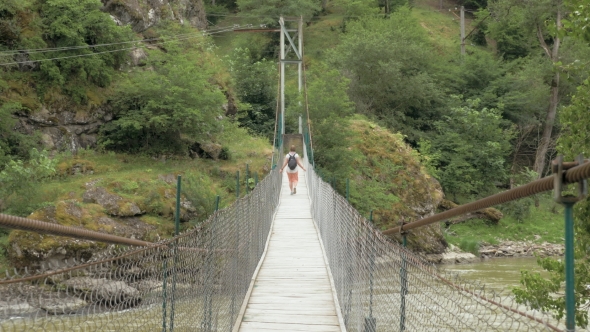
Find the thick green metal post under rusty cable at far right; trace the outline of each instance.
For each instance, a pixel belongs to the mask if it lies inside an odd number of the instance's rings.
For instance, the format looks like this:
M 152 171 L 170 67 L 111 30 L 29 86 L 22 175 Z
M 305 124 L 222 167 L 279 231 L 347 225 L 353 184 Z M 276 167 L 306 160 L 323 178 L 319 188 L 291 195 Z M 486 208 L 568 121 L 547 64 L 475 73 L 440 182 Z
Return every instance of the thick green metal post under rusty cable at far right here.
M 575 202 L 564 202 L 565 207 L 565 327 L 576 330 L 576 298 L 574 293 L 574 207 Z

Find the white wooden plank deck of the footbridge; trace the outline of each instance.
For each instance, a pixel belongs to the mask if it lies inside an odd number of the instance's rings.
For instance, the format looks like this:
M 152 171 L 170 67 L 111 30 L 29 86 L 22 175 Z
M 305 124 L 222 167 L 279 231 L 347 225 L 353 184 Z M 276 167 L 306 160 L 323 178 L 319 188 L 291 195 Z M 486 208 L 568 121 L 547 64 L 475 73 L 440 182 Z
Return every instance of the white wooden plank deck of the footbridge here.
M 240 332 L 345 331 L 311 219 L 302 170 L 296 195 L 290 195 L 287 175 L 283 175 L 281 200 L 262 259 Z

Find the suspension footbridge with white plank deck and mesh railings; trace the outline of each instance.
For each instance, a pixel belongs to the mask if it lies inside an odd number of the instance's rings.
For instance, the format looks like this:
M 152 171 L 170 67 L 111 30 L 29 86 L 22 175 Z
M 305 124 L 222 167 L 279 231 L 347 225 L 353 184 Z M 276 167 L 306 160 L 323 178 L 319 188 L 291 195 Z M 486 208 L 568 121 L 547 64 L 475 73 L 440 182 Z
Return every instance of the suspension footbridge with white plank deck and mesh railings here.
M 316 174 L 305 137 L 308 172 L 300 170 L 297 194 L 273 169 L 252 192 L 168 241 L 0 215 L 3 227 L 117 244 L 87 261 L 8 273 L 0 279 L 0 331 L 565 330 L 551 313 L 447 275 L 374 229 Z M 588 163 L 564 164 L 564 183 L 590 173 Z M 504 199 L 549 190 L 548 180 Z

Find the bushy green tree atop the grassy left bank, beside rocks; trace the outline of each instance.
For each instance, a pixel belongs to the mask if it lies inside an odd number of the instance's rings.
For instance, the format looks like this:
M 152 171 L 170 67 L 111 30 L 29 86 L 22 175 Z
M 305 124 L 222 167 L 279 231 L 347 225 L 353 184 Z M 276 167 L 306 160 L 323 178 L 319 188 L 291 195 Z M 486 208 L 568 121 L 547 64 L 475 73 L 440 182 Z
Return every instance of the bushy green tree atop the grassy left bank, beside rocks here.
M 99 143 L 132 153 L 186 154 L 188 146 L 211 141 L 225 101 L 210 82 L 214 68 L 171 44 L 167 54 L 152 52 L 150 58 L 149 70 L 118 84 L 111 101 L 116 117 L 101 128 Z

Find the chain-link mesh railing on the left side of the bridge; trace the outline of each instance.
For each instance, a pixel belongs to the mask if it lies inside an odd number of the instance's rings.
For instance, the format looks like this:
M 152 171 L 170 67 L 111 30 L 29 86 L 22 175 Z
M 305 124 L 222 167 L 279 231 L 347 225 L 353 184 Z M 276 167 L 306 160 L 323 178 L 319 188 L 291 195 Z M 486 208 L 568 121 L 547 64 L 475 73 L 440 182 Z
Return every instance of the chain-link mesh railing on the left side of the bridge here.
M 0 331 L 231 331 L 264 251 L 281 178 L 173 240 L 0 280 Z

